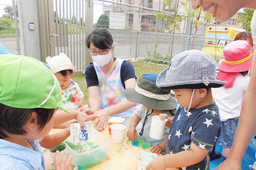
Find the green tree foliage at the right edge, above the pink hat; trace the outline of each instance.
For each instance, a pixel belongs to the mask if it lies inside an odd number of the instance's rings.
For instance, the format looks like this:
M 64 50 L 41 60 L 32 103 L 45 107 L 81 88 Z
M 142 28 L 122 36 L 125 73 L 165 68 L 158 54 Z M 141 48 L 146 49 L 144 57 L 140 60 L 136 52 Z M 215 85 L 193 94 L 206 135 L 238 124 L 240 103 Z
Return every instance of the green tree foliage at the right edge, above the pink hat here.
M 250 20 L 254 9 L 243 8 L 241 12 L 237 12 L 237 22 L 242 23 L 242 28 L 250 31 Z

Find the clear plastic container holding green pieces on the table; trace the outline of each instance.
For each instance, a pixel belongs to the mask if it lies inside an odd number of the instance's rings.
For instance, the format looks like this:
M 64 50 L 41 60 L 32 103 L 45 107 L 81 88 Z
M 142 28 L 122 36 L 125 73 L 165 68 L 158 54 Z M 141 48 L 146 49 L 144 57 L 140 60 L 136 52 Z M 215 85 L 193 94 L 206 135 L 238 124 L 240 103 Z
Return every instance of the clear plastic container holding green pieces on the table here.
M 70 143 L 67 144 L 69 154 L 73 156 L 71 161 L 71 168 L 75 166 L 78 169 L 87 169 L 95 166 L 109 158 L 109 139 L 102 133 L 94 129 L 94 140 L 92 142 L 84 143 Z

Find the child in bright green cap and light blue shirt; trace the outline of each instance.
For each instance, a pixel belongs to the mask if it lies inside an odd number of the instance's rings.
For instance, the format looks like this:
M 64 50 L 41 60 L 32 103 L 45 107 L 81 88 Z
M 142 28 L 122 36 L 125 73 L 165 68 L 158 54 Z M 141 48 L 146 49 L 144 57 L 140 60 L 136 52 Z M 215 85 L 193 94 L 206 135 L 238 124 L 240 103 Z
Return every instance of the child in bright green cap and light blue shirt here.
M 1 168 L 45 169 L 38 140 L 48 134 L 54 121 L 65 119 L 60 114 L 55 117 L 58 108 L 66 111 L 59 81 L 49 68 L 32 57 L 0 55 Z M 83 122 L 88 115 L 76 118 Z

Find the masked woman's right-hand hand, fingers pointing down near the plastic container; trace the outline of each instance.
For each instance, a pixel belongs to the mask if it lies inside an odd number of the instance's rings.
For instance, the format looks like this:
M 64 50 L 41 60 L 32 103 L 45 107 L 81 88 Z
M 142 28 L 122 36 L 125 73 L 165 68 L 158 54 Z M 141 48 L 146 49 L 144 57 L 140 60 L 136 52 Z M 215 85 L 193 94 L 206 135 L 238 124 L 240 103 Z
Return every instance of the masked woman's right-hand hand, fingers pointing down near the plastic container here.
M 94 112 L 94 115 L 99 116 L 94 122 L 94 125 L 97 126 L 97 129 L 105 129 L 108 116 L 110 115 L 108 108 L 97 110 Z

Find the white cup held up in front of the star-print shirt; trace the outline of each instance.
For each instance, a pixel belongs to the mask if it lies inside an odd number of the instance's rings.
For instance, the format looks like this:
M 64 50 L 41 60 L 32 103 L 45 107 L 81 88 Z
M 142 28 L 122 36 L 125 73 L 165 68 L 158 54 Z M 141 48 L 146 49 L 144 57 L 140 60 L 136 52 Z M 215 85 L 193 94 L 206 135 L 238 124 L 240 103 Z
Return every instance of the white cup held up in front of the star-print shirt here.
M 150 137 L 154 139 L 162 139 L 165 130 L 165 123 L 167 119 L 162 121 L 159 115 L 152 116 L 151 127 L 150 127 Z

